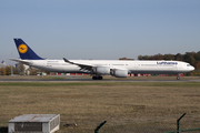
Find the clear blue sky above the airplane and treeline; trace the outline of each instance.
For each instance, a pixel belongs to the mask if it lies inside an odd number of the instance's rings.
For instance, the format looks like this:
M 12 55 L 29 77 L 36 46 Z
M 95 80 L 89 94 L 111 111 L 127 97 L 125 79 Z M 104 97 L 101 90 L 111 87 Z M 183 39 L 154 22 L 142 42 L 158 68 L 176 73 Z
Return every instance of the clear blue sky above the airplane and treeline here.
M 200 51 L 200 0 L 0 0 L 0 61 L 13 38 L 49 59 Z

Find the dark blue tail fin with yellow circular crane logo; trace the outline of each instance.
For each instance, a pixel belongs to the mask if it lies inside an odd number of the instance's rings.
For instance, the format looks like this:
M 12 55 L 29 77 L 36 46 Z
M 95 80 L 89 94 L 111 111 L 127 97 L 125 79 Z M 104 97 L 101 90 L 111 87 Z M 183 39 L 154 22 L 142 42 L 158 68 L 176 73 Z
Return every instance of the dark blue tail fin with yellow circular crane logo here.
M 22 60 L 44 60 L 32 51 L 31 48 L 22 39 L 13 39 L 17 50 Z

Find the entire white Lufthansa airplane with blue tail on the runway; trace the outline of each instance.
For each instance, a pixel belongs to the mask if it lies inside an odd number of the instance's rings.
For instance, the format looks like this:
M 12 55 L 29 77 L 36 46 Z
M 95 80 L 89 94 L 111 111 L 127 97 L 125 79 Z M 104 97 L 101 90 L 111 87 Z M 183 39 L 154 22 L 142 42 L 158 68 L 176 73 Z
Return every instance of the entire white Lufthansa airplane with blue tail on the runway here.
M 60 73 L 89 73 L 93 74 L 92 80 L 102 80 L 103 75 L 127 78 L 131 73 L 149 74 L 178 74 L 193 71 L 194 68 L 182 61 L 140 61 L 140 60 L 48 60 L 39 57 L 22 40 L 13 39 L 21 59 L 12 61 L 27 64 L 37 69 L 60 72 Z

